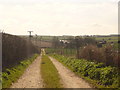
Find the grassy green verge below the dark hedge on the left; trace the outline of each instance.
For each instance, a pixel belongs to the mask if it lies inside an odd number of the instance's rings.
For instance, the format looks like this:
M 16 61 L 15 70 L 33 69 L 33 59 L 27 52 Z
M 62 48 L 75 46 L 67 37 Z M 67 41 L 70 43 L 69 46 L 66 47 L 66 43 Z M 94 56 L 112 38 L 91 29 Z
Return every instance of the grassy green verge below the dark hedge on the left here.
M 2 73 L 2 88 L 9 88 L 12 83 L 16 82 L 37 56 L 38 54 L 35 54 L 31 58 L 21 61 L 19 65 L 6 69 L 6 71 Z

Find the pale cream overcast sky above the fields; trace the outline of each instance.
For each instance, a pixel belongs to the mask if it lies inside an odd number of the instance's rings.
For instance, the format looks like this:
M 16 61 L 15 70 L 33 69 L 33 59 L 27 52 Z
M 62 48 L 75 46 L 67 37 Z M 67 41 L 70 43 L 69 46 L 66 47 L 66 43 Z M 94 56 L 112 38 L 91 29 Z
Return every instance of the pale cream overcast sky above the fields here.
M 119 0 L 0 0 L 0 29 L 26 35 L 118 33 Z

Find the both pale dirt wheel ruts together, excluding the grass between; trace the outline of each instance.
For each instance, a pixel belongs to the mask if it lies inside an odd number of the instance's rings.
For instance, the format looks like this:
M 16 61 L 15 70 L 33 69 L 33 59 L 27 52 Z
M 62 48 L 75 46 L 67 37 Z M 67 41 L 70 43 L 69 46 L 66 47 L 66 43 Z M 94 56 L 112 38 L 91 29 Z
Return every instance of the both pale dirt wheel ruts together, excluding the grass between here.
M 64 88 L 92 88 L 83 79 L 76 76 L 72 71 L 63 66 L 60 62 L 49 57 L 61 77 Z M 11 88 L 44 88 L 40 74 L 41 56 L 39 56 L 25 71 L 25 73 L 13 83 Z

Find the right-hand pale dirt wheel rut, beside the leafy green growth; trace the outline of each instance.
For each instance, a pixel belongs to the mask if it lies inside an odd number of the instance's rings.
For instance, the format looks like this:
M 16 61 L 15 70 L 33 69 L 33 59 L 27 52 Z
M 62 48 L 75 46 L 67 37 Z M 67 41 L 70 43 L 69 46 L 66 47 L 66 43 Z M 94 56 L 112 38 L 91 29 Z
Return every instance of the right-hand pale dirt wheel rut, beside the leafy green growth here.
M 49 57 L 60 74 L 64 88 L 92 88 L 83 79 L 76 76 L 72 71 L 63 66 L 60 62 Z

